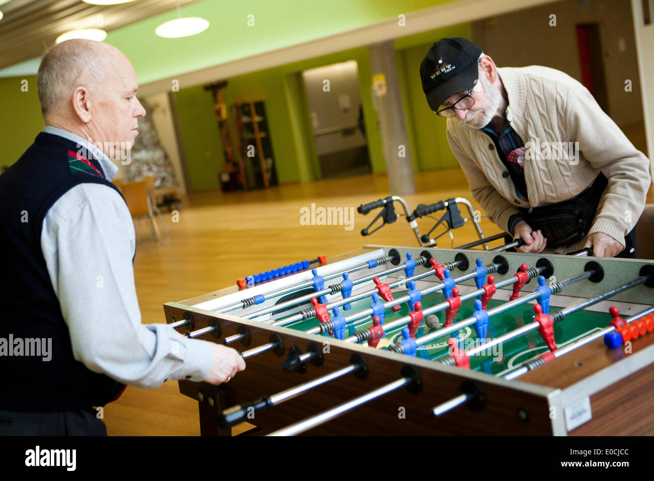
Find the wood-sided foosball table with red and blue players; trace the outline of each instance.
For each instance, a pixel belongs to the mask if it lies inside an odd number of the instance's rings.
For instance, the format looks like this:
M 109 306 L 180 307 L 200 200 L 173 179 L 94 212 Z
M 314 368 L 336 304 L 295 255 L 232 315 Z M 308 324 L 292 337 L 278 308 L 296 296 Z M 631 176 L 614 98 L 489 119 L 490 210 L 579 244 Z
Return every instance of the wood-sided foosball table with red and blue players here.
M 654 261 L 366 245 L 164 304 L 201 435 L 654 434 Z

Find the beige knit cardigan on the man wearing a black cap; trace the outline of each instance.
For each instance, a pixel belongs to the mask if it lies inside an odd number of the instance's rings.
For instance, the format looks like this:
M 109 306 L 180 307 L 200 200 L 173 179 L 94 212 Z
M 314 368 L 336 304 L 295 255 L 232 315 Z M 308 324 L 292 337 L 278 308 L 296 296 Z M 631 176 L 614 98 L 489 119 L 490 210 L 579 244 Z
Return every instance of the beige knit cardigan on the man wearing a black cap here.
M 644 209 L 651 183 L 649 159 L 628 141 L 590 92 L 565 73 L 532 65 L 499 68 L 498 74 L 509 99 L 507 120 L 525 147 L 532 143 L 531 158 L 525 160 L 529 200 L 518 199 L 492 139 L 481 130 L 460 125 L 455 117 L 449 118 L 447 140 L 468 177 L 473 198 L 492 222 L 507 230 L 509 217 L 518 213 L 516 206 L 540 207 L 573 198 L 590 187 L 602 171 L 608 186 L 587 235 L 604 232 L 625 245 L 624 236 Z M 543 146 L 555 142 L 572 142 L 572 146 L 578 142 L 578 156 L 571 160 L 556 150 L 549 155 Z M 568 152 L 576 150 L 572 147 Z M 547 251 L 574 251 L 584 242 Z

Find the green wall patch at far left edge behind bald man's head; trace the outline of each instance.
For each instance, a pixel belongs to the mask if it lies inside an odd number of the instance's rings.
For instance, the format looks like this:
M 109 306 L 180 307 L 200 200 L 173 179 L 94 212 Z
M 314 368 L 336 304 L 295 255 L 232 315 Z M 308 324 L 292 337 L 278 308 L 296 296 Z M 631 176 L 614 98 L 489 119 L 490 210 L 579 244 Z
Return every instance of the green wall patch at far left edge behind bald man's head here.
M 22 80 L 27 80 L 27 92 L 22 92 Z M 36 75 L 0 79 L 0 135 L 3 158 L 1 166 L 10 166 L 27 150 L 43 130 L 41 105 L 37 95 Z

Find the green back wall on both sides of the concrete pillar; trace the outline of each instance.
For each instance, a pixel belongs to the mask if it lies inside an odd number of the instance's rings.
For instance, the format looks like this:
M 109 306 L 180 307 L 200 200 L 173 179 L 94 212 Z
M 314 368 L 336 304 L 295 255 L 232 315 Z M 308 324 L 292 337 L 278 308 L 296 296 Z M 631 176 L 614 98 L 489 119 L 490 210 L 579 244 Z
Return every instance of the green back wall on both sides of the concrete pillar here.
M 398 39 L 395 44 L 409 150 L 416 171 L 458 166 L 447 145 L 445 119 L 430 111 L 422 93 L 419 76 L 424 54 L 434 41 L 442 37 L 470 38 L 470 26 L 462 24 L 404 37 Z M 373 173 L 383 173 L 386 171 L 386 164 L 381 134 L 377 127 L 377 111 L 373 107 L 370 90 L 372 71 L 368 48 L 354 48 L 228 79 L 228 85 L 223 91 L 227 105 L 232 105 L 237 97 L 241 98 L 241 101 L 266 102 L 269 134 L 280 182 L 311 181 L 320 178 L 301 71 L 346 60 L 356 60 L 358 63 L 371 166 Z M 329 94 L 325 93 L 326 96 Z M 217 174 L 224 162 L 212 104 L 211 94 L 201 86 L 181 89 L 177 94 L 184 149 L 194 190 L 218 187 Z M 207 124 L 202 125 L 202 122 Z M 199 132 L 202 134 L 199 135 Z M 235 129 L 231 119 L 230 132 L 235 147 Z M 189 152 L 194 154 L 190 155 Z M 205 152 L 211 152 L 211 156 L 207 157 Z

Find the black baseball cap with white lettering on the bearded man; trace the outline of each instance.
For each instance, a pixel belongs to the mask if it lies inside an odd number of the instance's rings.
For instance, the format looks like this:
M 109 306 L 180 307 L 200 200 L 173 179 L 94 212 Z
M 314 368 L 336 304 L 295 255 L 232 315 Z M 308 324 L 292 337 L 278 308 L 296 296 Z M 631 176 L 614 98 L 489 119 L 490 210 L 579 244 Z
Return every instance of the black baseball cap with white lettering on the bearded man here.
M 432 45 L 420 64 L 422 92 L 433 111 L 456 94 L 475 86 L 479 77 L 477 59 L 481 48 L 456 37 L 441 39 Z

